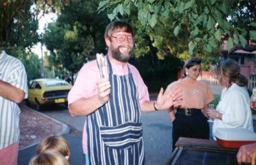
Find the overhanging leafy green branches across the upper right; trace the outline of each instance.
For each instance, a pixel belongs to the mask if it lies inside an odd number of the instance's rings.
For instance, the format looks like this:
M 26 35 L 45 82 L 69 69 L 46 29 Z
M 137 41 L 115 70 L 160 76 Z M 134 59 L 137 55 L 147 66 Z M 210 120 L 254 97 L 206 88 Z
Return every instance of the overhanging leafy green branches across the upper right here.
M 248 40 L 256 41 L 256 2 L 229 0 L 124 0 L 100 1 L 99 12 L 108 12 L 109 19 L 120 19 L 137 10 L 136 16 L 141 26 L 161 29 L 165 36 L 174 39 L 166 45 L 179 53 L 179 39 L 186 38 L 190 54 L 209 54 L 215 52 L 222 43 L 222 36 L 228 38 L 228 51 L 233 45 L 243 47 Z M 163 35 L 156 38 L 161 44 Z M 169 43 L 169 42 L 168 42 Z M 185 47 L 185 48 L 186 48 Z

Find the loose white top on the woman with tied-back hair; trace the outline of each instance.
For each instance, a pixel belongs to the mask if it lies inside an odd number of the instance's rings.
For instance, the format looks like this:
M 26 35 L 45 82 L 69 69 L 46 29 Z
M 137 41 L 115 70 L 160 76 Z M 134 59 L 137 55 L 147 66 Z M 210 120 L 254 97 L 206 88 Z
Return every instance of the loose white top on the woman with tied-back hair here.
M 224 88 L 216 110 L 222 114 L 222 120 L 215 119 L 212 135 L 215 138 L 217 128 L 244 128 L 253 131 L 250 97 L 245 87 L 232 84 Z

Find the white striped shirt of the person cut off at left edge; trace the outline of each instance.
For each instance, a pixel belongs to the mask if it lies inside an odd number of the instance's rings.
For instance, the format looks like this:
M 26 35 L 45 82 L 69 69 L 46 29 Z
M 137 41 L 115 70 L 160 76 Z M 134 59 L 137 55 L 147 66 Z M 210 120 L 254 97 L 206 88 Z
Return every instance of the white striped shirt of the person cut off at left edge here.
M 19 59 L 9 56 L 4 51 L 0 54 L 0 79 L 20 88 L 26 93 L 25 98 L 28 97 L 24 65 Z M 19 142 L 19 114 L 20 109 L 15 102 L 0 96 L 0 149 Z

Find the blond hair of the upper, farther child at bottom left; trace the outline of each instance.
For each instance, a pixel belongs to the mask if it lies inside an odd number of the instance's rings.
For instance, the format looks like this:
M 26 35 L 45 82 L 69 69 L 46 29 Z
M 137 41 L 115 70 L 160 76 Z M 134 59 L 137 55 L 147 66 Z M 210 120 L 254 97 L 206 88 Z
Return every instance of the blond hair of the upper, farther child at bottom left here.
M 36 148 L 36 154 L 47 151 L 59 152 L 64 157 L 70 155 L 70 147 L 62 136 L 49 136 L 45 138 Z

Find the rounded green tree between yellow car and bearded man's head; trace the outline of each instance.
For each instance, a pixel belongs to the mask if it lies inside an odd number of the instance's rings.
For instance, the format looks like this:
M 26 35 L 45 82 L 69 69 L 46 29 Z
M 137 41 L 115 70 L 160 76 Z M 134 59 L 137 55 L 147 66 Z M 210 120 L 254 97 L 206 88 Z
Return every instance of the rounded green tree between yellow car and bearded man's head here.
M 57 68 L 76 73 L 97 52 L 106 52 L 104 29 L 109 23 L 104 13 L 97 13 L 99 1 L 70 1 L 61 8 L 58 20 L 49 24 L 43 37 L 51 51 L 49 61 Z

